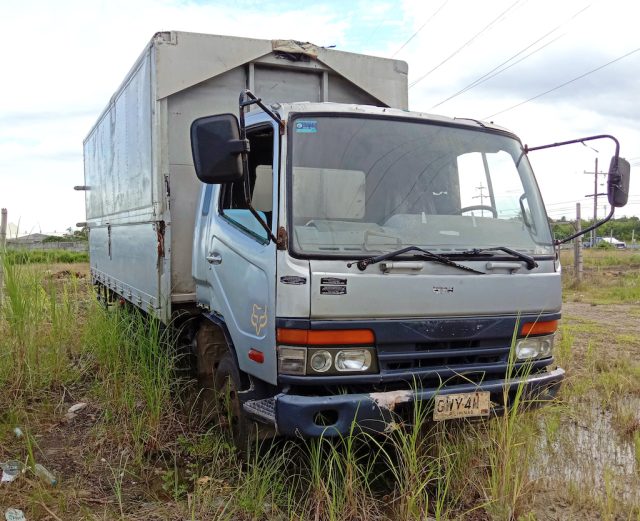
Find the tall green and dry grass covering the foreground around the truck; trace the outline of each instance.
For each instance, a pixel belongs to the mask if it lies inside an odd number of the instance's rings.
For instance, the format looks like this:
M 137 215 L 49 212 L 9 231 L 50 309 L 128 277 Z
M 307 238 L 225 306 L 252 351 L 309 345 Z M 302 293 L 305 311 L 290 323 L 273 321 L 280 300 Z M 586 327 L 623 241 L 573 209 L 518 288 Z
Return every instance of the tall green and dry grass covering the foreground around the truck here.
M 556 354 L 568 380 L 552 406 L 527 411 L 520 392 L 503 416 L 453 423 L 417 406 L 382 436 L 354 427 L 337 439 L 265 441 L 243 459 L 218 426 L 188 422 L 158 322 L 98 306 L 73 275 L 54 279 L 7 257 L 3 271 L 0 461 L 49 465 L 49 436 L 60 431 L 56 443 L 76 462 L 70 471 L 52 460 L 56 489 L 30 477 L 0 488 L 0 504 L 24 505 L 29 519 L 53 518 L 45 505 L 60 519 L 533 520 L 556 500 L 558 518 L 581 517 L 585 495 L 593 519 L 640 515 L 624 492 L 640 490 L 637 402 L 627 400 L 640 396 L 640 365 L 612 356 L 606 324 L 565 319 Z M 635 345 L 625 335 L 616 341 Z M 80 398 L 92 416 L 65 424 Z M 635 474 L 596 468 L 576 447 L 576 433 L 605 420 L 601 441 L 630 451 Z M 565 461 L 579 473 L 552 470 Z

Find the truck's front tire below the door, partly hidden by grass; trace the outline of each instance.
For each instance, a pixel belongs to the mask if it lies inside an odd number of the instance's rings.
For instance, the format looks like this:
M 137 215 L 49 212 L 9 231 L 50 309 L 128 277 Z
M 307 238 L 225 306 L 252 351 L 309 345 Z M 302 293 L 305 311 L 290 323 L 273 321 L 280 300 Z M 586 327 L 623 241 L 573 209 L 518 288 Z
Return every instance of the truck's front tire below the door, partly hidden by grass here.
M 238 451 L 246 454 L 256 439 L 257 425 L 242 408 L 238 395 L 243 390 L 242 379 L 231 353 L 227 352 L 220 360 L 214 380 L 219 423 Z

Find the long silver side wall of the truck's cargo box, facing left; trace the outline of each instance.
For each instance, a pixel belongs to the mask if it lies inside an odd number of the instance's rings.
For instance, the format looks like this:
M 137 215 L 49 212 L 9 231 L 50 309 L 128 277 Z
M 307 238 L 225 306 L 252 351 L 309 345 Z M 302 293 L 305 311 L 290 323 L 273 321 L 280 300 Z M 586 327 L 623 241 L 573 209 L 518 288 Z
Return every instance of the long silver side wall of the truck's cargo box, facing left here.
M 153 49 L 148 48 L 84 143 L 94 282 L 159 315 L 164 203 L 154 168 Z

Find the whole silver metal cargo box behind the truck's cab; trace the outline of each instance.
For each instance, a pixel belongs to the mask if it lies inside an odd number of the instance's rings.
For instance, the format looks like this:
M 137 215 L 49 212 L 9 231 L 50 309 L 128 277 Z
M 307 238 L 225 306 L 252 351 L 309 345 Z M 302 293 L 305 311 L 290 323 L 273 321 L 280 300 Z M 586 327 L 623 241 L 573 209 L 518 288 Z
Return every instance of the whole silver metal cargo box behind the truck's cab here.
M 407 109 L 407 65 L 287 40 L 157 33 L 84 141 L 91 274 L 170 320 L 195 303 L 193 230 L 201 184 L 189 128 L 238 113 L 249 88 L 275 102 Z

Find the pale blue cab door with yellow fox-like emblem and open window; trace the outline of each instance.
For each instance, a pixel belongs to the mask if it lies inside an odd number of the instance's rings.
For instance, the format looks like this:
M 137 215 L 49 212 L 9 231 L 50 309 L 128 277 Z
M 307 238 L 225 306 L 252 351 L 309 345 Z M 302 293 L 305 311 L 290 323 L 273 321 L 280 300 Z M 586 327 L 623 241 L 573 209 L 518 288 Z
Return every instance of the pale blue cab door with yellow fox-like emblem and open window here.
M 279 133 L 269 120 L 249 127 L 247 138 L 252 206 L 275 234 Z M 211 218 L 206 260 L 212 310 L 226 323 L 240 369 L 275 384 L 276 245 L 249 211 L 243 181 L 221 186 Z M 251 350 L 264 361 L 249 358 Z

